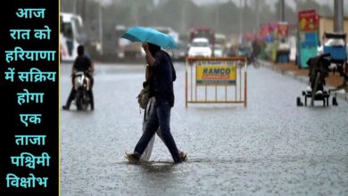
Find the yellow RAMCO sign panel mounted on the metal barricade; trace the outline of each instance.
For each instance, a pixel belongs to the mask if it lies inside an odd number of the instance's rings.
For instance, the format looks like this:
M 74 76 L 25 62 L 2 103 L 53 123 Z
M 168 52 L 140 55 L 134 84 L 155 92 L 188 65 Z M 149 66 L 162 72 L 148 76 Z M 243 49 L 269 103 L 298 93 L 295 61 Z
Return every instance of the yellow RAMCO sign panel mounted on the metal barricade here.
M 235 86 L 236 64 L 226 61 L 202 61 L 196 66 L 197 86 Z

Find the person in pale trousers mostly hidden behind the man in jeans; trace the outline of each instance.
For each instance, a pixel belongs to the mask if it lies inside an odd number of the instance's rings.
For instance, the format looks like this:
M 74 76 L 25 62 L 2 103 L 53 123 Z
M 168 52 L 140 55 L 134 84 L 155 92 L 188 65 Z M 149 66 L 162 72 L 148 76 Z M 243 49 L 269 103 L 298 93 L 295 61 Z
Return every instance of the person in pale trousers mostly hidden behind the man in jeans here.
M 147 65 L 146 69 L 145 69 L 145 82 L 143 83 L 143 86 L 144 87 L 150 86 L 151 85 L 150 81 L 151 81 L 151 67 Z M 151 88 L 151 86 L 150 86 L 150 89 L 153 89 L 153 88 Z M 147 102 L 145 112 L 144 112 L 143 132 L 145 132 L 146 122 L 149 119 L 149 114 L 153 111 L 153 108 L 154 108 L 153 105 L 155 102 L 155 98 L 153 96 L 153 92 L 150 92 L 149 96 L 151 96 L 151 97 L 149 98 L 149 101 Z M 161 138 L 162 142 L 164 143 L 160 128 L 158 128 L 156 130 L 156 135 L 158 135 Z M 147 147 L 146 147 L 143 155 L 140 158 L 141 160 L 148 161 L 150 159 L 151 153 L 153 151 L 154 137 L 155 137 L 155 135 L 153 135 L 150 142 L 147 144 Z M 178 150 L 178 154 L 182 160 L 186 161 L 186 153 L 184 151 Z

